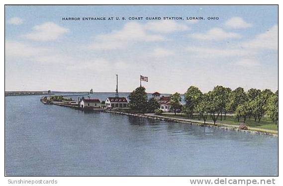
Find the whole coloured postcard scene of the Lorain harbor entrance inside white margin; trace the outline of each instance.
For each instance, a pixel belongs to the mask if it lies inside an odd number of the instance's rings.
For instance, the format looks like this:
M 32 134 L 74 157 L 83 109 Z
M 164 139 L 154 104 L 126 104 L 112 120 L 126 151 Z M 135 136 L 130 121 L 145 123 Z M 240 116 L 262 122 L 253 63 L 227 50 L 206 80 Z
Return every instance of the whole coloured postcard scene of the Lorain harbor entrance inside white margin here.
M 277 177 L 278 30 L 278 5 L 5 5 L 5 176 Z

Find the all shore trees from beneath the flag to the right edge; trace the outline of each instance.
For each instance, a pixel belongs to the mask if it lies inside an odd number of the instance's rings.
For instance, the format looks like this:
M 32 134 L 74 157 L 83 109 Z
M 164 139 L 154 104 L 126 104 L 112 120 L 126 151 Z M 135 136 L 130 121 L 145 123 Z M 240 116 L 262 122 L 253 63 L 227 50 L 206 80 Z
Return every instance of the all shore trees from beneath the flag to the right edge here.
M 216 86 L 208 93 L 202 93 L 197 87 L 191 86 L 184 94 L 185 104 L 181 104 L 180 93 L 174 93 L 170 96 L 170 109 L 175 112 L 182 110 L 188 118 L 192 118 L 196 113 L 206 122 L 210 115 L 214 124 L 222 115 L 224 120 L 226 114 L 234 113 L 238 121 L 243 118 L 245 123 L 247 117 L 254 117 L 255 121 L 260 122 L 266 114 L 273 122 L 278 121 L 278 91 L 273 93 L 271 90 L 250 89 L 247 92 L 239 87 L 235 90 Z M 144 87 L 138 87 L 129 94 L 129 105 L 132 110 L 138 112 L 154 112 L 160 108 L 159 102 L 151 97 L 148 99 Z

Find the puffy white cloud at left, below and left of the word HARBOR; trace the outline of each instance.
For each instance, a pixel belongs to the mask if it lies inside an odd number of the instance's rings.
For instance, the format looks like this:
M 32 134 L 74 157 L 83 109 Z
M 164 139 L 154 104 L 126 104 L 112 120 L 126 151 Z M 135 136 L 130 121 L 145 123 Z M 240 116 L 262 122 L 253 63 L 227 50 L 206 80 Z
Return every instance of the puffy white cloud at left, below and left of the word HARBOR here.
M 53 22 L 45 22 L 41 25 L 36 25 L 33 31 L 25 34 L 24 37 L 36 41 L 56 40 L 62 34 L 69 31 L 69 29 L 59 26 Z

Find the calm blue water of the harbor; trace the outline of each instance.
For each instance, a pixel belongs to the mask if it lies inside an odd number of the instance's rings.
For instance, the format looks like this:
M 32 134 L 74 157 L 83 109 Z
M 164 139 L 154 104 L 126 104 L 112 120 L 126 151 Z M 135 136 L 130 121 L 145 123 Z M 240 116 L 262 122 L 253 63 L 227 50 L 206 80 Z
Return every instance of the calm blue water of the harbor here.
M 5 97 L 7 176 L 278 175 L 277 137 L 86 113 L 40 97 Z

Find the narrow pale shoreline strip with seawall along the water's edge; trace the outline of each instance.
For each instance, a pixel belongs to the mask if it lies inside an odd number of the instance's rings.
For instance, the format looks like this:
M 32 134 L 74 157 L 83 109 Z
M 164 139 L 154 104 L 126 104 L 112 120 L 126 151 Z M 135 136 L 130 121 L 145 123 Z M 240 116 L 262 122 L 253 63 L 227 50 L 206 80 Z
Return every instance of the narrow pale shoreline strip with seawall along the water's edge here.
M 191 124 L 191 125 L 197 125 L 197 126 L 204 126 L 203 122 L 197 122 L 197 121 L 190 121 L 186 119 L 179 119 L 179 118 L 171 118 L 171 117 L 166 117 L 166 116 L 161 116 L 161 115 L 152 115 L 152 114 L 133 114 L 133 113 L 126 113 L 126 112 L 121 112 L 121 111 L 109 111 L 109 110 L 104 110 L 104 112 L 108 113 L 116 113 L 116 114 L 123 114 L 123 115 L 130 115 L 130 116 L 136 116 L 136 117 L 143 117 L 143 118 L 151 118 L 151 119 L 159 119 L 159 120 L 165 120 L 165 121 L 173 121 L 177 123 L 186 123 L 186 124 Z M 208 127 L 215 127 L 223 130 L 233 130 L 233 131 L 239 131 L 239 132 L 247 132 L 251 134 L 259 134 L 259 135 L 268 135 L 268 136 L 275 136 L 278 137 L 278 133 L 273 133 L 272 131 L 261 131 L 256 128 L 248 128 L 248 130 L 240 130 L 237 126 L 232 126 L 232 125 L 223 125 L 223 124 L 211 124 L 211 123 L 206 123 L 205 126 Z

